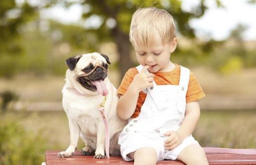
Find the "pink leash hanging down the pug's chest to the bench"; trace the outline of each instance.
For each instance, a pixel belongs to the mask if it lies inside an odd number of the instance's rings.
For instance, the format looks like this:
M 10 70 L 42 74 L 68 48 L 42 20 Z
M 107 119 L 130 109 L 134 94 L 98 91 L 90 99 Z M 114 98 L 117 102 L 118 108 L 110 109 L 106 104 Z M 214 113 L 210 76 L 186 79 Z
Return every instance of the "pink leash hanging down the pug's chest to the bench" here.
M 104 110 L 106 99 L 107 99 L 107 97 L 105 96 L 102 104 L 99 106 L 99 111 L 100 111 L 101 117 L 102 117 L 104 125 L 105 125 L 105 151 L 106 151 L 106 156 L 107 156 L 107 158 L 110 158 L 109 157 L 109 140 L 110 140 L 109 123 L 108 123 L 107 116 L 106 116 L 105 110 Z

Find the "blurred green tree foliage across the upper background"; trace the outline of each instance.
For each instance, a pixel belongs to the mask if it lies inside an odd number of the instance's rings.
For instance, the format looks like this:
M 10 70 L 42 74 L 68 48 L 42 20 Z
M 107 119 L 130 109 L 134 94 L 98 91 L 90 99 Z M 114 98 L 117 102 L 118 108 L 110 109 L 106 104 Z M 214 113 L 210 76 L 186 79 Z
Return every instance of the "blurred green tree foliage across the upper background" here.
M 84 10 L 80 23 L 83 24 L 91 16 L 99 16 L 102 20 L 99 28 L 41 20 L 37 6 L 32 7 L 27 2 L 16 4 L 14 0 L 1 0 L 0 76 L 11 78 L 21 73 L 33 73 L 37 76 L 64 75 L 64 61 L 67 57 L 97 51 L 100 43 L 105 41 L 115 42 L 120 55 L 117 64 L 111 67 L 118 67 L 119 71 L 126 72 L 124 68 L 129 61 L 123 56 L 128 56 L 130 50 L 128 31 L 131 15 L 137 8 L 148 6 L 164 8 L 170 12 L 177 21 L 179 33 L 192 41 L 190 47 L 180 47 L 178 44 L 171 57 L 174 62 L 186 66 L 210 66 L 223 73 L 229 73 L 234 67 L 242 69 L 256 66 L 256 50 L 247 50 L 242 41 L 243 32 L 246 30 L 244 25 L 238 25 L 231 32 L 230 39 L 236 42 L 232 47 L 225 47 L 225 41 L 209 39 L 199 42 L 193 39 L 194 32 L 188 23 L 192 18 L 204 14 L 207 9 L 204 0 L 190 12 L 182 10 L 181 0 L 51 0 L 42 2 L 44 6 L 41 7 L 52 7 L 56 4 L 69 7 L 77 3 L 89 8 Z M 219 0 L 216 3 L 222 7 Z M 116 26 L 107 26 L 106 22 L 110 18 L 116 21 Z M 42 30 L 42 21 L 49 25 L 47 30 Z M 67 51 L 63 51 L 63 47 L 67 47 Z M 122 62 L 122 59 L 126 60 Z

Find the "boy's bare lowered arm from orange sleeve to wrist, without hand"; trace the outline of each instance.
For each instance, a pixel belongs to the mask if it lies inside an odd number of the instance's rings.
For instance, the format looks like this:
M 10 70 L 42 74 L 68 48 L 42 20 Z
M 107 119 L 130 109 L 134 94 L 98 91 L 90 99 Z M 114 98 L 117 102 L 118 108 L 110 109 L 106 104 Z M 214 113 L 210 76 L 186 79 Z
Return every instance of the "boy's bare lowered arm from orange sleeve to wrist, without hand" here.
M 198 123 L 200 117 L 200 107 L 199 102 L 194 101 L 186 105 L 185 118 L 177 130 L 180 138 L 184 140 L 186 137 L 192 134 L 196 124 Z

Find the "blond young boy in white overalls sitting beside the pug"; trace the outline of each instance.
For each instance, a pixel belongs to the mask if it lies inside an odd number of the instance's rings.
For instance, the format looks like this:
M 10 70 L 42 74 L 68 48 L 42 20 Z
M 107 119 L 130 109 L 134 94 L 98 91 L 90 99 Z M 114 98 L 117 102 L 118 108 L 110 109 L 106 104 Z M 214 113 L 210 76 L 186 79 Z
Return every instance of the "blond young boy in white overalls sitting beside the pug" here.
M 178 41 L 172 16 L 140 8 L 129 35 L 140 65 L 128 70 L 118 89 L 118 115 L 129 119 L 119 137 L 123 159 L 134 165 L 164 159 L 208 165 L 191 135 L 200 116 L 198 100 L 205 94 L 189 69 L 170 61 Z

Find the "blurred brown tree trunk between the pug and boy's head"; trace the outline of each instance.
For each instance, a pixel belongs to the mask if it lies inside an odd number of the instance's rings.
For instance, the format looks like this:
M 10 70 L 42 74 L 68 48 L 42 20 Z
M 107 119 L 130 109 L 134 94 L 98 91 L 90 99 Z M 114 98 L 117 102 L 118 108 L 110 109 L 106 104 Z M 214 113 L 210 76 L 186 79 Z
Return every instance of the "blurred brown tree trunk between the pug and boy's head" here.
M 118 67 L 121 73 L 119 82 L 121 82 L 128 69 L 133 67 L 133 62 L 130 58 L 131 43 L 129 41 L 129 36 L 118 28 L 113 29 L 112 35 L 114 36 L 115 43 L 117 44 L 120 57 Z

